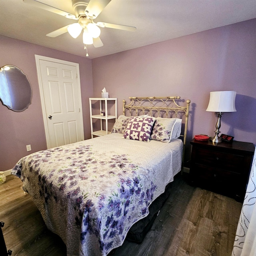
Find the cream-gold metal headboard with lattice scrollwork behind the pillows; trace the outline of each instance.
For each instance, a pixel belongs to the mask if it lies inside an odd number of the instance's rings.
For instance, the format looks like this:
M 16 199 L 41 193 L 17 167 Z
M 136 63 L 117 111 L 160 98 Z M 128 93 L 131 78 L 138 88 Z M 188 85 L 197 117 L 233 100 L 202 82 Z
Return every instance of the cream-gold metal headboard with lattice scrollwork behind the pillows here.
M 179 106 L 177 100 L 180 100 L 180 96 L 174 97 L 129 97 L 130 104 L 126 105 L 126 101 L 123 100 L 123 114 L 124 116 L 139 116 L 148 114 L 154 117 L 165 118 L 181 118 L 184 121 L 184 129 L 182 129 L 183 137 L 183 156 L 182 163 L 184 162 L 184 150 L 186 146 L 186 136 L 188 130 L 188 114 L 190 100 L 186 100 L 186 106 Z M 185 116 L 185 118 L 184 118 Z M 183 118 L 182 118 L 183 117 Z

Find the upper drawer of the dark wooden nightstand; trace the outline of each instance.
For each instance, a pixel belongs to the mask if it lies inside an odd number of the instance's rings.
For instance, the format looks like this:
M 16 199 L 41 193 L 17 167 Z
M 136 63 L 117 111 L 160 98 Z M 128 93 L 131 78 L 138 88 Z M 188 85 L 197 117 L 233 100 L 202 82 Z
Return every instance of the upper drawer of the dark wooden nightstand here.
M 243 162 L 244 156 L 216 152 L 203 148 L 196 149 L 196 164 L 203 164 L 223 170 L 229 170 L 231 172 L 241 173 Z

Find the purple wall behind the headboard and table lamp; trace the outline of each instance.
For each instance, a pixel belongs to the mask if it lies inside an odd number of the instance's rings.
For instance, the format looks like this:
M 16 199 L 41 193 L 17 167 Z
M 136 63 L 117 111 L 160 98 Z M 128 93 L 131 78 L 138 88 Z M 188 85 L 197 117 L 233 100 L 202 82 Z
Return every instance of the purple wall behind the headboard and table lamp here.
M 236 90 L 237 112 L 223 114 L 220 131 L 256 144 L 256 19 L 96 58 L 92 70 L 94 96 L 106 87 L 118 114 L 129 96 L 190 99 L 188 142 L 214 135 L 210 92 Z

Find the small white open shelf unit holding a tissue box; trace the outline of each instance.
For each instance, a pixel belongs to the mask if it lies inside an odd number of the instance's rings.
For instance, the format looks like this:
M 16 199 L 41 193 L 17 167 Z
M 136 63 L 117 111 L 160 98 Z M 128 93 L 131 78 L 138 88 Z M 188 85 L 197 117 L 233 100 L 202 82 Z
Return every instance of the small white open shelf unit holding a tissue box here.
M 90 121 L 91 121 L 92 138 L 93 138 L 93 136 L 103 136 L 106 134 L 110 134 L 111 131 L 108 130 L 108 120 L 117 118 L 117 104 L 116 104 L 117 98 L 89 98 L 89 101 L 90 101 Z M 105 116 L 102 116 L 101 114 L 97 114 L 97 115 L 92 114 L 92 104 L 95 104 L 97 101 L 99 102 L 100 113 L 102 111 L 104 111 Z M 114 104 L 115 113 L 111 113 L 112 115 L 110 115 L 110 113 L 109 113 L 108 103 Z M 94 131 L 94 128 L 93 128 L 93 119 L 94 118 L 100 120 L 100 130 Z M 105 122 L 106 130 L 103 130 L 104 122 Z

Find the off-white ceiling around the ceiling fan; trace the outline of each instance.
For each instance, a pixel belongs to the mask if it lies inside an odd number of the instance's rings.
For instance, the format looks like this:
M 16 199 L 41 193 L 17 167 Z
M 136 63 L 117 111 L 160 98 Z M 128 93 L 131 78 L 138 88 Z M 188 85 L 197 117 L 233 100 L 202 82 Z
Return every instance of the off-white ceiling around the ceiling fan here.
M 72 0 L 38 0 L 74 14 Z M 88 46 L 97 58 L 156 42 L 256 18 L 256 0 L 112 0 L 95 19 L 135 26 L 136 32 L 100 28 L 103 47 Z M 46 36 L 74 23 L 22 0 L 0 0 L 0 34 L 85 57 L 82 33 Z

